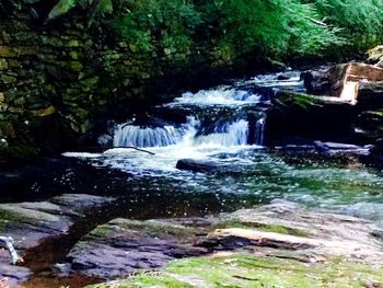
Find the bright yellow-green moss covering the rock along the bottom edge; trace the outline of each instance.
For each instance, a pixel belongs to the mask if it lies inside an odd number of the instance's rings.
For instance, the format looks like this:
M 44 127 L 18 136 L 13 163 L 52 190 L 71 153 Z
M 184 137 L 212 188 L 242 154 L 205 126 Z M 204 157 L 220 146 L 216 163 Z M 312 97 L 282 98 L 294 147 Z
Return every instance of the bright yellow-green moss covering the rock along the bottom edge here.
M 383 280 L 383 267 L 343 258 L 306 264 L 295 260 L 233 254 L 176 260 L 159 274 L 139 274 L 113 286 L 92 287 L 189 287 L 190 278 L 199 279 L 207 287 L 365 287 L 369 281 Z M 183 281 L 182 286 L 179 281 Z

